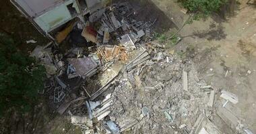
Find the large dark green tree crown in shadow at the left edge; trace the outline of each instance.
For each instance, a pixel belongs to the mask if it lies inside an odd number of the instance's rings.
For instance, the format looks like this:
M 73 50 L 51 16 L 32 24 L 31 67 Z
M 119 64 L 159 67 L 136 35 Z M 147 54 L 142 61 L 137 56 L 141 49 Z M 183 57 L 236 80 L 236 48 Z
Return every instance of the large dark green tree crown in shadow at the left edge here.
M 18 44 L 0 33 L 0 116 L 9 109 L 29 111 L 44 86 L 44 66 L 22 54 Z

